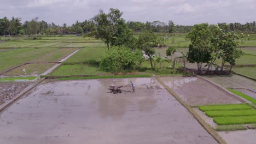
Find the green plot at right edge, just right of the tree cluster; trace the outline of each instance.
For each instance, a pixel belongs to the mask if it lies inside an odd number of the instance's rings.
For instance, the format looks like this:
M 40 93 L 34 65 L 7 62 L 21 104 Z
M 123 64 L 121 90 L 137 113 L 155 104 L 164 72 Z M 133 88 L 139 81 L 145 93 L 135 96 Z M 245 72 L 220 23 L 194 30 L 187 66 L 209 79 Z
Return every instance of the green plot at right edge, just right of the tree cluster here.
M 256 59 L 256 57 L 255 57 Z M 240 75 L 244 75 L 247 77 L 251 77 L 252 79 L 256 79 L 256 67 L 241 67 L 241 68 L 232 68 L 233 71 L 235 71 L 235 73 L 240 74 Z

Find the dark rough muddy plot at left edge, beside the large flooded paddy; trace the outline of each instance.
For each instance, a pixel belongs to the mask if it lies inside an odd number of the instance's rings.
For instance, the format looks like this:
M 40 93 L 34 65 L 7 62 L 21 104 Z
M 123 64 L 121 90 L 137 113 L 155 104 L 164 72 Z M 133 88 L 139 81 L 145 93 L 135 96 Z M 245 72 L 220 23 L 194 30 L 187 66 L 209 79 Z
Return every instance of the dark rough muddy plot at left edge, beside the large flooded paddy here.
M 15 98 L 32 83 L 0 83 L 0 105 Z

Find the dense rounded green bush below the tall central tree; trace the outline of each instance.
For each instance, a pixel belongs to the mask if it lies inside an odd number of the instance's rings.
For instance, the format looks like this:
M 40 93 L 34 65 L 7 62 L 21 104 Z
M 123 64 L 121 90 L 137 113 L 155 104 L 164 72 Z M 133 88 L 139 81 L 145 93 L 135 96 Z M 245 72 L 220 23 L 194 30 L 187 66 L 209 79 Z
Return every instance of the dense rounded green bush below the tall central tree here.
M 141 51 L 132 52 L 125 46 L 113 46 L 102 58 L 100 69 L 110 72 L 129 71 L 141 63 L 142 57 Z

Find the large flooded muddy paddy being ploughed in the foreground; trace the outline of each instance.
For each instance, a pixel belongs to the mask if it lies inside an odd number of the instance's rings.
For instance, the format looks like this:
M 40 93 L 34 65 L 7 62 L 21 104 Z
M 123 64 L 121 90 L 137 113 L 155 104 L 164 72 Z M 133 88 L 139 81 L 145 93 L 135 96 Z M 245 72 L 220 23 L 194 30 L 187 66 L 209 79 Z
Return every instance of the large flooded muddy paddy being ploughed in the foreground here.
M 127 85 L 123 93 L 110 84 Z M 153 78 L 55 81 L 0 115 L 0 143 L 217 143 Z

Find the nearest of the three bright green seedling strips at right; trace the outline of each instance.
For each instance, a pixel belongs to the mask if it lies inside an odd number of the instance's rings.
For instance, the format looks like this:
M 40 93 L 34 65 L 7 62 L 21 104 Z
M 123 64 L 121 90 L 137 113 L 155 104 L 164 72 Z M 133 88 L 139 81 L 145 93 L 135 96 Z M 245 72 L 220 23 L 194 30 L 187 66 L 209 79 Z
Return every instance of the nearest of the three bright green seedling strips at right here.
M 214 117 L 213 121 L 218 125 L 251 124 L 256 123 L 256 116 Z

